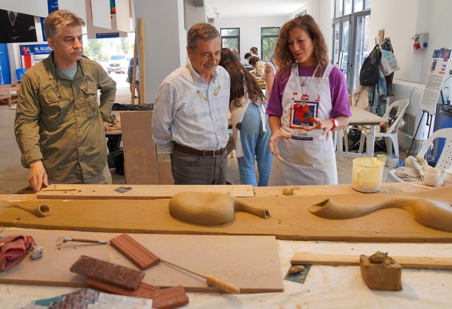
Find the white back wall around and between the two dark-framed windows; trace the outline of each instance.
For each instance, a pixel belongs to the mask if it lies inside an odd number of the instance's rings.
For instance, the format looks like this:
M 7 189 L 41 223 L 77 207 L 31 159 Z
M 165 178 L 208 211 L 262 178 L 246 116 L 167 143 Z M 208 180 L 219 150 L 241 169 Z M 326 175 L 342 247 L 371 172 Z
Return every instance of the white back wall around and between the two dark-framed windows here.
M 250 48 L 255 46 L 261 51 L 261 27 L 281 27 L 287 22 L 287 17 L 255 17 L 255 18 L 216 18 L 215 27 L 220 31 L 221 28 L 240 28 L 240 57 L 242 63 L 244 56 L 250 52 Z

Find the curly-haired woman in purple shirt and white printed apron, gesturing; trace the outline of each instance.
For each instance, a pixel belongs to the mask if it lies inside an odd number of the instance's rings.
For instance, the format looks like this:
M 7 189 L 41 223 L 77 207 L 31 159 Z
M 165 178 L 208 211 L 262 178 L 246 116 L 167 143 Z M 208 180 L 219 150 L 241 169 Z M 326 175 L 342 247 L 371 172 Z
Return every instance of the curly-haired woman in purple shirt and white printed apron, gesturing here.
M 275 155 L 269 185 L 337 184 L 330 131 L 346 127 L 351 116 L 344 74 L 328 64 L 309 15 L 282 27 L 275 54 L 280 69 L 267 108 Z

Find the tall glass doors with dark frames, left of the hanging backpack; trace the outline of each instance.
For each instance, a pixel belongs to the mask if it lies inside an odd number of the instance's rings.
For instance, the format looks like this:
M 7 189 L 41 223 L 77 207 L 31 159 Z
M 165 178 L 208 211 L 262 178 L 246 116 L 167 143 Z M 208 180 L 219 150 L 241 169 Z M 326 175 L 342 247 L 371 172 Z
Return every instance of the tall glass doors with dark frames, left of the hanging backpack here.
M 344 72 L 350 93 L 359 81 L 369 49 L 373 48 L 369 40 L 371 4 L 372 0 L 334 1 L 332 64 Z

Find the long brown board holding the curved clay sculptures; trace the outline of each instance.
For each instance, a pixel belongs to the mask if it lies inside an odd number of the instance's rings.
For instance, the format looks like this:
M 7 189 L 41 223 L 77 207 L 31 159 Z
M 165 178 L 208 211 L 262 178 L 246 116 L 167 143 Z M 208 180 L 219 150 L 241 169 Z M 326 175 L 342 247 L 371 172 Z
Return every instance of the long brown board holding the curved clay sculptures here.
M 438 190 L 447 193 L 447 189 L 430 189 L 426 190 L 426 193 L 434 198 L 438 196 Z M 397 197 L 414 197 L 420 194 L 404 193 L 397 194 Z M 360 207 L 393 197 L 394 194 L 381 193 L 241 198 L 252 206 L 268 208 L 271 218 L 262 219 L 248 213 L 236 212 L 234 220 L 220 226 L 193 225 L 174 219 L 169 214 L 168 199 L 35 200 L 20 203 L 35 207 L 48 204 L 52 208 L 52 214 L 38 218 L 23 210 L 9 208 L 0 214 L 0 225 L 102 232 L 275 235 L 278 239 L 288 240 L 452 242 L 452 233 L 424 227 L 403 209 L 383 209 L 367 216 L 343 220 L 323 219 L 308 210 L 310 205 L 326 198 Z

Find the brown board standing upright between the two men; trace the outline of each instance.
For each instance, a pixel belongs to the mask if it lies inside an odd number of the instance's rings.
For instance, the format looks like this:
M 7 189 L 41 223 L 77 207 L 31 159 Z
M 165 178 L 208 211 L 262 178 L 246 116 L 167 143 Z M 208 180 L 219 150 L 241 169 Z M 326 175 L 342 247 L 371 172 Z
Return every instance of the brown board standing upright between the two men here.
M 157 154 L 151 128 L 152 110 L 120 114 L 126 184 L 158 185 Z

